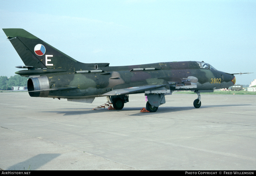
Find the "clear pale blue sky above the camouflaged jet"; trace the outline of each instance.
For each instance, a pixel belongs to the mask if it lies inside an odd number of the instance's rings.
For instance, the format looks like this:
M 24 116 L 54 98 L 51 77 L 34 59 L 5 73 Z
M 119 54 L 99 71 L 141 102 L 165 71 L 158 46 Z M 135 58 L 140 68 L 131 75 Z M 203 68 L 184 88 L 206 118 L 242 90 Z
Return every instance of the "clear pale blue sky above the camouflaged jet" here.
M 204 61 L 256 79 L 256 1 L 0 1 L 0 27 L 23 28 L 84 63 Z M 0 31 L 0 76 L 24 65 Z

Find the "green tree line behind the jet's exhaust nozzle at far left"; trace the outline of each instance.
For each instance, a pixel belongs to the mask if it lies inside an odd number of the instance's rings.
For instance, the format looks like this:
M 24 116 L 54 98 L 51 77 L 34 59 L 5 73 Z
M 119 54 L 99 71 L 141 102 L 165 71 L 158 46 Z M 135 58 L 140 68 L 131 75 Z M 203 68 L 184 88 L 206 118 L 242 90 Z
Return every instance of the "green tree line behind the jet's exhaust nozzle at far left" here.
M 12 86 L 27 86 L 27 81 L 27 77 L 20 75 L 14 75 L 9 78 L 7 76 L 0 76 L 0 90 L 6 90 L 6 83 L 7 90 L 12 90 Z

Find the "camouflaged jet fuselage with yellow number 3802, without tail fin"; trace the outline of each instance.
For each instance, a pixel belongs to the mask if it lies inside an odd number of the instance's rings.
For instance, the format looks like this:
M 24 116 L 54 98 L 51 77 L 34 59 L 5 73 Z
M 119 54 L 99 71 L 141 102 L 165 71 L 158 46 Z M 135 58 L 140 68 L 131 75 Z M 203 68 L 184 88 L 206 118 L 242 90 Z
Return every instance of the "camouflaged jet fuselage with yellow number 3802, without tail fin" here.
M 139 70 L 141 69 L 141 70 Z M 99 72 L 94 72 L 99 71 Z M 88 72 L 88 73 L 87 73 Z M 194 78 L 189 81 L 180 79 Z M 41 75 L 38 78 L 39 84 L 33 85 L 33 90 L 60 88 L 60 87 L 77 87 L 74 89 L 58 91 L 31 92 L 33 97 L 51 97 L 51 98 L 88 98 L 97 97 L 107 93 L 113 87 L 120 84 L 137 83 L 149 79 L 163 79 L 172 83 L 170 90 L 213 90 L 228 88 L 234 83 L 233 75 L 209 69 L 200 68 L 197 62 L 165 62 L 131 66 L 104 67 L 99 70 L 80 71 L 72 73 L 54 73 Z M 195 82 L 196 80 L 196 82 Z M 195 82 L 191 86 L 191 82 Z M 175 84 L 173 84 L 175 83 Z M 41 85 L 40 85 L 41 84 Z M 187 84 L 187 85 L 186 85 Z M 192 83 L 193 84 L 193 83 Z M 32 90 L 31 85 L 28 85 Z M 126 86 L 127 87 L 127 86 Z M 139 93 L 139 92 L 136 92 Z M 143 91 L 141 92 L 143 93 Z

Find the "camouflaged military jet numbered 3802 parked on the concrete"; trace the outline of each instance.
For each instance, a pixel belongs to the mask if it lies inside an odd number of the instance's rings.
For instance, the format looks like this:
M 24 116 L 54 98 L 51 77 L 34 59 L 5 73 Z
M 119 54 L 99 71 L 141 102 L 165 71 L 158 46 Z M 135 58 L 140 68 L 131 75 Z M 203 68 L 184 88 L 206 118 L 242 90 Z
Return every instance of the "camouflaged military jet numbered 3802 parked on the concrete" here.
M 205 62 L 160 62 L 109 66 L 109 63 L 81 63 L 40 40 L 24 29 L 3 29 L 26 66 L 15 72 L 28 79 L 31 97 L 66 98 L 92 103 L 95 97 L 109 96 L 113 107 L 121 110 L 129 94 L 145 93 L 146 109 L 156 112 L 165 95 L 176 90 L 197 93 L 194 107 L 201 106 L 200 93 L 228 88 L 234 74 L 216 70 Z

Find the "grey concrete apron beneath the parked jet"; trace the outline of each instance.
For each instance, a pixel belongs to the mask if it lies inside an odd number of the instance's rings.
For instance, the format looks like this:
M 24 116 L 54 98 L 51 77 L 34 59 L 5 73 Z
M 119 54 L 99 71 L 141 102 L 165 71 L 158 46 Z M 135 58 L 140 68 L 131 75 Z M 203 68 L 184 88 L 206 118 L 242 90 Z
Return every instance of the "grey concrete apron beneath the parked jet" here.
M 173 94 L 142 113 L 143 94 L 122 110 L 0 93 L 3 170 L 256 170 L 256 96 Z

